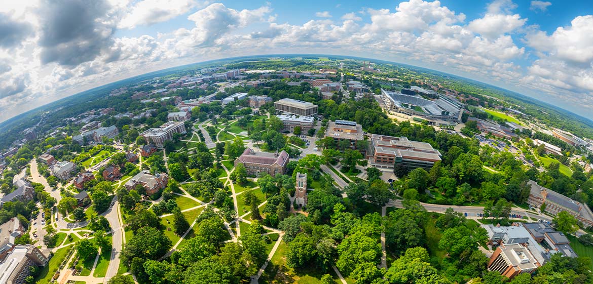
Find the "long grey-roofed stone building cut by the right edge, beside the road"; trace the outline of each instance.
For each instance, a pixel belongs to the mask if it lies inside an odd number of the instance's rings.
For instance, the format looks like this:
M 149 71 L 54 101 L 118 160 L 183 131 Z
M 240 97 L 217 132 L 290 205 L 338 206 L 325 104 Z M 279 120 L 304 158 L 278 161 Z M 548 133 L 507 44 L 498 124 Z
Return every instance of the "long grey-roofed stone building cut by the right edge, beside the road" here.
M 546 203 L 544 211 L 551 215 L 566 211 L 575 216 L 585 226 L 593 226 L 593 213 L 586 204 L 546 189 L 546 187 L 540 186 L 533 180 L 530 180 L 528 184 L 531 186 L 531 190 L 527 204 L 531 207 L 540 209 L 541 205 Z

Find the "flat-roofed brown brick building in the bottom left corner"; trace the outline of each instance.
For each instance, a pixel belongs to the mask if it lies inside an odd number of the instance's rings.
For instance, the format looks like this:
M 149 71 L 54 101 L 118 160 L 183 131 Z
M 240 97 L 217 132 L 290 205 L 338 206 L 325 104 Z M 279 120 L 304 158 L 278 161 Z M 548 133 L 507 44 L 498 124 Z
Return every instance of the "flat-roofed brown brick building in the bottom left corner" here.
M 0 263 L 0 283 L 23 284 L 31 275 L 30 267 L 43 267 L 49 258 L 33 245 L 17 245 Z

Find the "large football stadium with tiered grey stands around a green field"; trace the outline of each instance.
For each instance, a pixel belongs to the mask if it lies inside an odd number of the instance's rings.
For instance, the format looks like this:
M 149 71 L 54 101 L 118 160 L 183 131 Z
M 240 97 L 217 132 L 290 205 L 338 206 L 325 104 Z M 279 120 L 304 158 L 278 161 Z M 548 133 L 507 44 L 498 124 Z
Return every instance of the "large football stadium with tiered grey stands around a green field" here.
M 381 98 L 392 113 L 428 120 L 429 125 L 455 125 L 461 121 L 461 114 L 463 114 L 462 103 L 441 94 L 438 99 L 431 101 L 415 95 L 405 95 L 381 89 Z

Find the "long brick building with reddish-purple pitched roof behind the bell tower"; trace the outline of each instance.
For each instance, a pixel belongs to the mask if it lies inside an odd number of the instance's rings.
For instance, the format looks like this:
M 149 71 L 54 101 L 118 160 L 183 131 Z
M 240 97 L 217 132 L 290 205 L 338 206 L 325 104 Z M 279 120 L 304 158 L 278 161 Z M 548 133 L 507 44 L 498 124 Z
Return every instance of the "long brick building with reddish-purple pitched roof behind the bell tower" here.
M 286 173 L 286 164 L 288 164 L 288 153 L 256 152 L 250 148 L 245 149 L 243 154 L 235 159 L 235 167 L 243 165 L 248 175 L 259 175 L 267 173 L 275 176 L 276 174 Z

